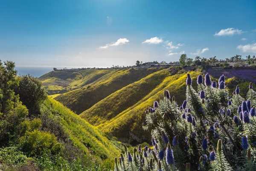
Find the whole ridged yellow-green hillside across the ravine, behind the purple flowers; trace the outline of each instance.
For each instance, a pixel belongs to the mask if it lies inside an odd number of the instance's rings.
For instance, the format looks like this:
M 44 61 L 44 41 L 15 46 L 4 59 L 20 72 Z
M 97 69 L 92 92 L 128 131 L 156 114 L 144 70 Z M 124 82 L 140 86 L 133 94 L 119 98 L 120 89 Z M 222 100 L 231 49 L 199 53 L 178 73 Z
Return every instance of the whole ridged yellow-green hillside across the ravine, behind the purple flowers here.
M 108 72 L 90 84 L 52 97 L 71 110 L 81 113 L 81 118 L 103 133 L 135 145 L 149 141 L 149 133 L 141 128 L 144 111 L 159 99 L 164 90 L 169 90 L 178 104 L 185 99 L 188 71 L 196 87 L 195 80 L 201 70 L 195 68 L 126 69 Z M 218 80 L 216 77 L 212 79 Z M 81 80 L 86 81 L 86 78 Z M 226 81 L 231 93 L 237 84 L 240 87 L 248 86 L 244 80 L 235 77 Z

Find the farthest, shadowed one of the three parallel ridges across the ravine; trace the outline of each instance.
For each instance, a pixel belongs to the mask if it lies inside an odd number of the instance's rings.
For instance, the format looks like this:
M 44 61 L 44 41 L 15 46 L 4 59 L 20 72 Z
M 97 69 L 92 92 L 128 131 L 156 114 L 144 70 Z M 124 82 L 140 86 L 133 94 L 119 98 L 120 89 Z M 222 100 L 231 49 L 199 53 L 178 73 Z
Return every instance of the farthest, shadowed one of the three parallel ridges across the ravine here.
M 55 99 L 76 113 L 89 109 L 111 93 L 159 69 L 112 70 L 91 84 L 57 96 Z

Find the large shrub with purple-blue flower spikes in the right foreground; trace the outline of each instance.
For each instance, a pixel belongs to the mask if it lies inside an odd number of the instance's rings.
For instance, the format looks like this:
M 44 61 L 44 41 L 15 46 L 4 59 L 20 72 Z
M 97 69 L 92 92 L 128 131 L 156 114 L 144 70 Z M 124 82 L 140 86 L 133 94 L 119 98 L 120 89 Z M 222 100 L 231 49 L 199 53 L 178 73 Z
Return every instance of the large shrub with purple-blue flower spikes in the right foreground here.
M 204 84 L 203 84 L 204 82 Z M 256 92 L 250 83 L 246 97 L 237 85 L 230 95 L 225 77 L 197 79 L 198 92 L 186 78 L 186 100 L 177 105 L 165 90 L 159 103 L 145 113 L 143 129 L 152 147 L 125 146 L 115 159 L 116 171 L 254 171 L 256 168 Z M 218 86 L 217 86 L 218 84 Z

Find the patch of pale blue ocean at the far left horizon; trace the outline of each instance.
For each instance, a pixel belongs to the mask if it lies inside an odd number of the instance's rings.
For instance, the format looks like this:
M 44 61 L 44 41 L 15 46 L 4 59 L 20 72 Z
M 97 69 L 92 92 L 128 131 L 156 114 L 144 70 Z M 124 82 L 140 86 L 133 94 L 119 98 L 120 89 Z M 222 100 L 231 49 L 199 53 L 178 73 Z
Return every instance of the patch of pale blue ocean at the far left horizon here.
M 18 75 L 32 75 L 34 77 L 40 77 L 53 70 L 53 67 L 15 67 Z

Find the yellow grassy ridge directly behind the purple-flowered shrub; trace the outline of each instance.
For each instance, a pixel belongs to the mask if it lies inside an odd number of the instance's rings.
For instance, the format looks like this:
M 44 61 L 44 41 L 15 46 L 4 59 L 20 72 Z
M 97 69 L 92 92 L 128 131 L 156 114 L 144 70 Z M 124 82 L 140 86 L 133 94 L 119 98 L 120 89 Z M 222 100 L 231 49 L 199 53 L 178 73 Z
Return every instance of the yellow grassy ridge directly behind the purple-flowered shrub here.
M 200 72 L 190 72 L 192 78 Z M 144 119 L 144 111 L 152 106 L 153 102 L 159 99 L 163 90 L 169 90 L 171 96 L 176 96 L 177 102 L 181 103 L 184 99 L 186 73 L 176 74 L 166 77 L 161 84 L 148 93 L 143 99 L 133 106 L 119 113 L 116 117 L 99 125 L 103 132 L 111 136 L 118 137 L 121 141 L 136 144 L 138 142 L 148 141 L 149 134 L 143 132 L 141 125 Z M 131 135 L 131 136 L 130 136 Z

